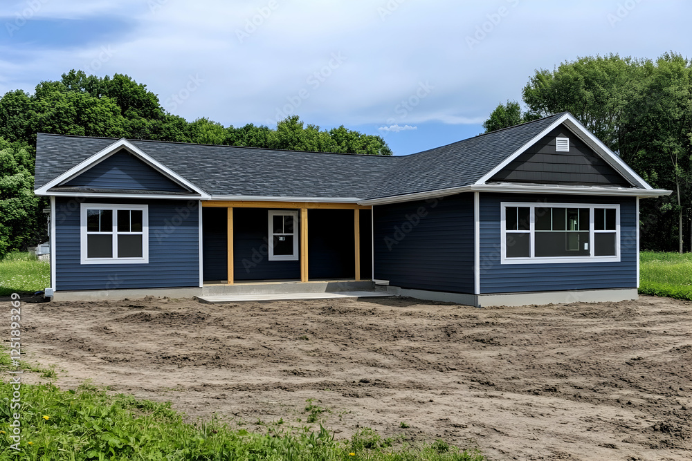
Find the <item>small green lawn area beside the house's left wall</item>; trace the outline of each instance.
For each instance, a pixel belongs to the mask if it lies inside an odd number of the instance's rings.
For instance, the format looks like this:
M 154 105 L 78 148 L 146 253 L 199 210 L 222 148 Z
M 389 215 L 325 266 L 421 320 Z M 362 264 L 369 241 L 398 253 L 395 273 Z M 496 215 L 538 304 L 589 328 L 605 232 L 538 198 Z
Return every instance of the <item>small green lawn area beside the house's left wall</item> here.
M 51 284 L 51 267 L 28 252 L 12 252 L 0 259 L 0 296 L 42 291 Z

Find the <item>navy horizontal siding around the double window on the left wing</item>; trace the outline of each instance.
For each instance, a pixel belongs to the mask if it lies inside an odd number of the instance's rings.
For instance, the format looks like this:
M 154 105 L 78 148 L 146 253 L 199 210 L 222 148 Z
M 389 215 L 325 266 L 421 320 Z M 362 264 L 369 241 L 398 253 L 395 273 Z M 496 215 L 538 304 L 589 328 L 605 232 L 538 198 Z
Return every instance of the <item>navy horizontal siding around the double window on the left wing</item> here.
M 149 205 L 148 264 L 80 263 L 80 203 Z M 179 200 L 56 198 L 57 290 L 115 290 L 199 285 L 199 203 Z

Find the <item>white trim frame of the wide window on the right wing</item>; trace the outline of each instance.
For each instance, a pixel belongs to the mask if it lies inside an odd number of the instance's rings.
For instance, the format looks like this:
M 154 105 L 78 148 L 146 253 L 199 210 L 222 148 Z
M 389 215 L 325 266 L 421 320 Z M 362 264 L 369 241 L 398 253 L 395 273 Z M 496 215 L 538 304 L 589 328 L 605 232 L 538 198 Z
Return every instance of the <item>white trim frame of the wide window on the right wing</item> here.
M 506 208 L 507 207 L 527 207 L 531 208 L 529 214 L 531 237 L 530 254 L 528 258 L 507 258 L 507 222 Z M 536 208 L 588 208 L 589 209 L 589 243 L 590 256 L 550 256 L 536 257 L 534 256 L 534 239 L 536 229 L 534 225 Z M 615 256 L 595 256 L 594 255 L 594 234 L 598 232 L 612 231 L 596 231 L 594 230 L 594 208 L 610 208 L 615 209 Z M 543 203 L 543 202 L 501 202 L 500 203 L 500 263 L 501 264 L 550 264 L 550 263 L 619 263 L 620 262 L 620 205 L 604 204 L 604 203 Z M 510 233 L 515 231 L 509 231 Z M 585 232 L 585 231 L 584 231 Z

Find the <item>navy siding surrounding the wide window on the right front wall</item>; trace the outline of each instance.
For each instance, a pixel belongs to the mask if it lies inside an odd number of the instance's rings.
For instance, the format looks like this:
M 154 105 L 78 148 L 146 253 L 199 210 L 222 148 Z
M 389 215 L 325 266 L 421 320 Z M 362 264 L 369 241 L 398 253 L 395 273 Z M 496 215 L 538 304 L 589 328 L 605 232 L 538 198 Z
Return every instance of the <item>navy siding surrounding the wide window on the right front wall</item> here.
M 500 203 L 608 203 L 620 205 L 619 263 L 500 263 Z M 597 290 L 637 286 L 635 198 L 480 194 L 481 293 Z

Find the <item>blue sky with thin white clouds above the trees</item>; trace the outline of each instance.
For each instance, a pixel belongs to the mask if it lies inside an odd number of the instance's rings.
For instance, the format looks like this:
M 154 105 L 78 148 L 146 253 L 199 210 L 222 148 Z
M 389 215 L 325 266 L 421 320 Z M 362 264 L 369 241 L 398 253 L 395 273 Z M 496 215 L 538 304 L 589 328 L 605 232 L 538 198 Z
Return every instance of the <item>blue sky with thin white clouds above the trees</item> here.
M 0 6 L 0 91 L 72 68 L 125 73 L 188 120 L 298 114 L 397 154 L 482 132 L 534 70 L 586 55 L 688 55 L 682 0 L 29 0 Z

